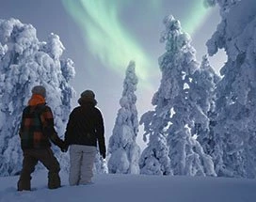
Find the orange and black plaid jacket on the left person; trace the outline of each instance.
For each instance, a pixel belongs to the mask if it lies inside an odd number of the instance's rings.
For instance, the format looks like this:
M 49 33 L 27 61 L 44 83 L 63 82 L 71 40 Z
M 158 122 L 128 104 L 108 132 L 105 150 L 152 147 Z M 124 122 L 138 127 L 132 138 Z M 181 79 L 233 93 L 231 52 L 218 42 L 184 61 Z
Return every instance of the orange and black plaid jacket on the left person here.
M 61 144 L 54 128 L 52 110 L 45 103 L 24 108 L 19 134 L 23 149 L 50 148 L 49 139 L 57 146 Z

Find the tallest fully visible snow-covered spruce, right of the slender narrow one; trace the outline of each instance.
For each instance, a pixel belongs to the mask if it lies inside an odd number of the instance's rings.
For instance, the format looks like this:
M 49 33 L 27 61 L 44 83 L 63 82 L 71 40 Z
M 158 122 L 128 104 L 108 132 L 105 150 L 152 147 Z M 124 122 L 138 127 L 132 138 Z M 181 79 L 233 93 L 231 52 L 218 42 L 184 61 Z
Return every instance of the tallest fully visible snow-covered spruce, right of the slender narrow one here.
M 140 121 L 145 128 L 144 138 L 150 135 L 148 147 L 140 158 L 141 173 L 215 176 L 211 157 L 190 132 L 195 121 L 204 124 L 204 128 L 208 123 L 200 109 L 200 100 L 189 86 L 199 68 L 195 50 L 179 21 L 168 16 L 164 23 L 166 31 L 161 42 L 167 42 L 167 52 L 159 58 L 162 80 L 152 98 L 154 111 L 145 113 Z

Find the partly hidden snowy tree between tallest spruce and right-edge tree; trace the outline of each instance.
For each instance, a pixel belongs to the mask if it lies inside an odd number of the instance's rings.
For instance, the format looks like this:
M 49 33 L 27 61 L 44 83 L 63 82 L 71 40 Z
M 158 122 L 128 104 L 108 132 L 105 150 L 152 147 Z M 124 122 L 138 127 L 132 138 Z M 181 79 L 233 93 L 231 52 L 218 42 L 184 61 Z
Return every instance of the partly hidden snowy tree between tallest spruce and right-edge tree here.
M 193 74 L 193 80 L 190 92 L 194 100 L 200 106 L 202 113 L 208 117 L 208 124 L 200 124 L 195 120 L 192 128 L 192 135 L 197 135 L 203 150 L 210 154 L 215 147 L 213 127 L 215 126 L 216 117 L 216 84 L 220 80 L 215 70 L 211 67 L 208 56 L 204 55 L 200 64 L 200 69 Z

